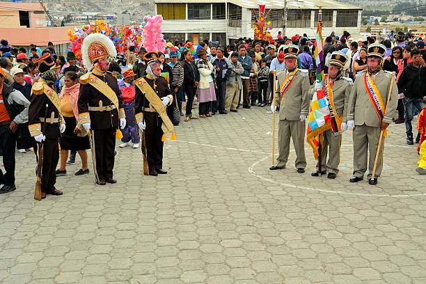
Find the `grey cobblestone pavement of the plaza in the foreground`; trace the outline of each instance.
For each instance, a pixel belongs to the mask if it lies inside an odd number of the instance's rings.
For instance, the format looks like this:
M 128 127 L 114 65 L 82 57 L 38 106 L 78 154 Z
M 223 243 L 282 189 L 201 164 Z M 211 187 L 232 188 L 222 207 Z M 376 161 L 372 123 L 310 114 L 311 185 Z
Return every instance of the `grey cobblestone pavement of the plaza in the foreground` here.
M 391 125 L 376 187 L 349 184 L 352 133 L 336 180 L 270 172 L 271 114 L 192 120 L 167 141 L 168 175 L 117 148 L 118 184 L 58 178 L 33 200 L 35 159 L 17 153 L 17 190 L 0 196 L 0 283 L 426 283 L 426 187 L 416 145 Z M 277 153 L 277 151 L 276 151 Z M 91 164 L 90 164 L 91 165 Z M 90 168 L 91 171 L 91 168 Z

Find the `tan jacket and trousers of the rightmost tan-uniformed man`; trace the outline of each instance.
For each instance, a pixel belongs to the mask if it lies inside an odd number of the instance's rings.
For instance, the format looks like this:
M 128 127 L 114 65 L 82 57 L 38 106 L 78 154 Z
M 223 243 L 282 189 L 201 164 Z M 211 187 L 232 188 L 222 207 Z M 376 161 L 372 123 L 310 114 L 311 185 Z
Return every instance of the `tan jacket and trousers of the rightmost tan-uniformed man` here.
M 382 158 L 383 158 L 383 144 L 379 153 L 379 159 L 376 169 L 376 177 L 371 177 L 372 168 L 374 166 L 374 158 L 377 152 L 377 145 L 379 143 L 381 121 L 374 105 L 370 100 L 364 84 L 364 72 L 358 72 L 354 87 L 352 88 L 351 96 L 349 98 L 349 106 L 347 113 L 347 120 L 355 120 L 355 128 L 353 132 L 354 139 L 354 176 L 363 178 L 365 171 L 367 171 L 367 155 L 370 150 L 368 160 L 368 178 L 377 178 L 381 174 Z M 393 88 L 390 92 L 390 100 L 388 106 L 386 102 L 388 99 L 388 92 L 390 88 L 390 81 L 392 75 L 389 72 L 380 70 L 373 80 L 376 83 L 377 89 L 381 94 L 381 99 L 384 102 L 386 112 L 384 113 L 383 122 L 391 123 L 393 118 L 397 118 L 397 102 L 398 102 L 398 88 L 394 82 Z M 395 80 L 395 77 L 393 78 Z

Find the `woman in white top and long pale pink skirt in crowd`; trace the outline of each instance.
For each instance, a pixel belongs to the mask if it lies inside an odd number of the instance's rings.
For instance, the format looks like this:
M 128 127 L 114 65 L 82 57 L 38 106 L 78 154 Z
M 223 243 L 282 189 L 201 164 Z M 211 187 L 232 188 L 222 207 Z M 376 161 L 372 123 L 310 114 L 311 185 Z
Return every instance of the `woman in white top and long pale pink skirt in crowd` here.
M 197 52 L 198 61 L 196 63 L 200 73 L 200 83 L 198 84 L 198 115 L 200 118 L 212 116 L 212 102 L 216 101 L 214 90 L 214 67 L 207 59 L 205 49 Z

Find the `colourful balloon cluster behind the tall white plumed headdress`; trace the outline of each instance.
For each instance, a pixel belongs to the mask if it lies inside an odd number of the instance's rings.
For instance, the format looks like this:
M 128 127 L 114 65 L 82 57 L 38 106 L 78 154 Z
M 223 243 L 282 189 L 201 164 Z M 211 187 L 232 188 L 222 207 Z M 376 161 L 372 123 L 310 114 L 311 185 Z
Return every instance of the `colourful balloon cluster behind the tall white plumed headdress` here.
M 84 38 L 90 33 L 102 33 L 113 41 L 118 51 L 117 54 L 123 55 L 129 47 L 139 47 L 141 45 L 143 26 L 144 24 L 138 26 L 111 26 L 104 20 L 98 19 L 95 24 L 86 24 L 81 26 L 81 28 L 68 29 L 68 39 L 70 40 L 68 51 L 74 52 L 77 58 L 81 58 L 81 45 Z

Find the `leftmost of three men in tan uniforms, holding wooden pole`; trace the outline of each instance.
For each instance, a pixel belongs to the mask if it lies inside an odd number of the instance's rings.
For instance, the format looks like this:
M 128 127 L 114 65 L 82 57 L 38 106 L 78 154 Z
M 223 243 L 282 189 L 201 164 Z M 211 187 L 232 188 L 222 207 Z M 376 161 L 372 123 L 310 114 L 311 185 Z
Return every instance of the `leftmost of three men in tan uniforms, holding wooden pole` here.
M 305 148 L 305 120 L 309 111 L 309 76 L 308 70 L 297 68 L 297 54 L 299 47 L 286 45 L 283 48 L 285 69 L 277 73 L 278 86 L 276 88 L 276 105 L 280 107 L 278 123 L 279 155 L 276 166 L 271 171 L 285 168 L 290 152 L 290 136 L 296 150 L 296 168 L 298 173 L 304 173 L 306 167 Z M 271 105 L 271 111 L 277 108 Z

